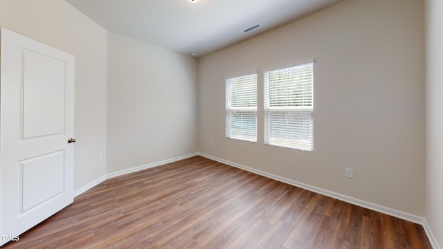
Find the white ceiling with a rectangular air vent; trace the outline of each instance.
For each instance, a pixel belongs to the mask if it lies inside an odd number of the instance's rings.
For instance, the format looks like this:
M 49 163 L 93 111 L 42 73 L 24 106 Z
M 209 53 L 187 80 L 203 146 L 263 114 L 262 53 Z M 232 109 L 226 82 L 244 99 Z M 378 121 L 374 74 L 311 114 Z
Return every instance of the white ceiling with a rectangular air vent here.
M 343 0 L 66 1 L 111 32 L 199 57 Z

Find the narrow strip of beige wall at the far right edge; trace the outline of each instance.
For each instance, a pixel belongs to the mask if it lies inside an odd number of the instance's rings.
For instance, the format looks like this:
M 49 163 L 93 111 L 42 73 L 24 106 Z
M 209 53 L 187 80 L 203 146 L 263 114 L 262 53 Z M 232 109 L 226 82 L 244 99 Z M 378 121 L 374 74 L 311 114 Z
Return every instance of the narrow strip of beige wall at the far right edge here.
M 443 246 L 443 1 L 426 1 L 426 220 Z

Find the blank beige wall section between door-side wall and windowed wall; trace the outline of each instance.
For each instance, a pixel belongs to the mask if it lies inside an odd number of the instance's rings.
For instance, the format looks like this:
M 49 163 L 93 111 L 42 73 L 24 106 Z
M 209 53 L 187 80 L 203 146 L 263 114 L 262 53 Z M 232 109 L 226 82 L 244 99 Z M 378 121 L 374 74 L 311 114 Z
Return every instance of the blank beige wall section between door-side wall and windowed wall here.
M 197 151 L 197 60 L 108 35 L 107 172 Z

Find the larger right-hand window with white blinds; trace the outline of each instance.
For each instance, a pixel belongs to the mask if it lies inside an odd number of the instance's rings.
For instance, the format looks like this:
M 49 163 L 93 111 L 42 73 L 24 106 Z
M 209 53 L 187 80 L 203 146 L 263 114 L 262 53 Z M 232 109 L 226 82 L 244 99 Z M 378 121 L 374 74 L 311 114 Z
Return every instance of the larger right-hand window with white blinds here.
M 313 151 L 314 62 L 264 72 L 264 143 Z

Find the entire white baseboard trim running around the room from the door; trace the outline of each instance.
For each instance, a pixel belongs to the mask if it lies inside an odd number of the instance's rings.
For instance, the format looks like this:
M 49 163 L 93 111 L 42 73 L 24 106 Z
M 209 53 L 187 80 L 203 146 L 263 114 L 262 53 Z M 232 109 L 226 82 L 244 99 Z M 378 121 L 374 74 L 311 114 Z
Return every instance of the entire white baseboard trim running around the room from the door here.
M 149 168 L 157 167 L 157 166 L 160 166 L 160 165 L 165 165 L 167 163 L 174 163 L 174 162 L 176 162 L 178 160 L 183 160 L 183 159 L 186 159 L 186 158 L 191 158 L 192 156 L 203 156 L 204 158 L 208 158 L 210 160 L 215 160 L 215 161 L 217 161 L 219 163 L 224 163 L 226 165 L 229 165 L 229 166 L 232 166 L 232 167 L 236 167 L 238 169 L 243 169 L 243 170 L 246 170 L 247 172 L 251 172 L 251 173 L 254 173 L 254 174 L 259 174 L 260 176 L 271 178 L 271 179 L 273 179 L 275 181 L 280 181 L 282 183 L 287 183 L 289 185 L 293 185 L 293 186 L 296 186 L 296 187 L 301 187 L 302 189 L 309 190 L 309 191 L 312 191 L 312 192 L 316 192 L 318 194 L 323 194 L 325 196 L 329 196 L 329 197 L 332 197 L 334 199 L 345 201 L 347 203 L 358 205 L 358 206 L 360 206 L 362 208 L 368 208 L 370 210 L 381 212 L 383 214 L 388 214 L 388 215 L 391 215 L 391 216 L 395 216 L 395 217 L 397 217 L 399 219 L 404 219 L 406 221 L 411 221 L 413 223 L 417 223 L 417 224 L 423 226 L 424 231 L 426 232 L 426 235 L 427 235 L 427 237 L 428 237 L 428 239 L 429 239 L 429 241 L 431 243 L 431 246 L 433 246 L 433 248 L 435 248 L 435 249 L 442 249 L 440 247 L 440 245 L 437 243 L 437 240 L 435 239 L 435 237 L 433 235 L 433 232 L 429 228 L 428 222 L 422 216 L 417 216 L 417 215 L 414 215 L 414 214 L 408 214 L 407 212 L 402 212 L 402 211 L 399 211 L 399 210 L 394 210 L 392 208 L 386 208 L 386 207 L 383 207 L 382 205 L 377 205 L 377 204 L 374 204 L 374 203 L 369 203 L 367 201 L 362 201 L 362 200 L 359 200 L 359 199 L 355 199 L 355 198 L 353 198 L 351 196 L 345 196 L 344 194 L 338 194 L 336 192 L 332 192 L 332 191 L 329 191 L 329 190 L 323 190 L 323 189 L 321 189 L 319 187 L 314 187 L 314 186 L 311 186 L 311 185 L 307 185 L 305 183 L 300 183 L 298 181 L 293 181 L 293 180 L 291 180 L 289 178 L 284 178 L 284 177 L 277 176 L 277 175 L 274 175 L 274 174 L 269 174 L 268 172 L 263 172 L 263 171 L 258 170 L 258 169 L 253 169 L 251 167 L 247 167 L 247 166 L 244 166 L 244 165 L 239 165 L 238 163 L 233 163 L 233 162 L 230 162 L 228 160 L 217 158 L 215 156 L 210 156 L 210 155 L 204 154 L 204 153 L 188 154 L 188 155 L 185 155 L 185 156 L 179 156 L 179 157 L 171 158 L 171 159 L 168 159 L 168 160 L 161 160 L 161 161 L 158 161 L 158 162 L 155 162 L 155 163 L 149 163 L 147 165 L 141 165 L 141 166 L 138 166 L 138 167 L 132 167 L 130 169 L 124 169 L 124 170 L 121 170 L 119 172 L 109 173 L 109 174 L 106 174 L 105 176 L 102 176 L 102 177 L 98 178 L 96 181 L 93 181 L 93 182 L 89 183 L 88 185 L 85 185 L 84 187 L 80 188 L 79 190 L 75 190 L 74 196 L 79 196 L 80 194 L 86 192 L 87 190 L 89 190 L 92 187 L 102 183 L 103 181 L 105 181 L 105 180 L 107 180 L 109 178 L 114 178 L 116 176 L 123 176 L 125 174 L 129 174 L 129 173 L 133 173 L 133 172 L 138 172 L 138 171 L 141 171 L 143 169 L 149 169 Z

